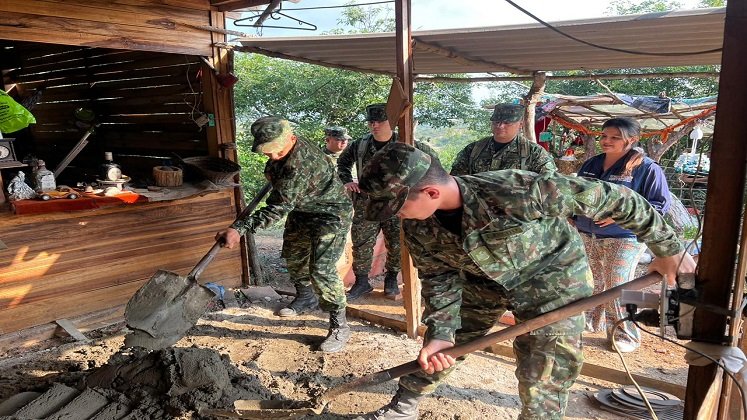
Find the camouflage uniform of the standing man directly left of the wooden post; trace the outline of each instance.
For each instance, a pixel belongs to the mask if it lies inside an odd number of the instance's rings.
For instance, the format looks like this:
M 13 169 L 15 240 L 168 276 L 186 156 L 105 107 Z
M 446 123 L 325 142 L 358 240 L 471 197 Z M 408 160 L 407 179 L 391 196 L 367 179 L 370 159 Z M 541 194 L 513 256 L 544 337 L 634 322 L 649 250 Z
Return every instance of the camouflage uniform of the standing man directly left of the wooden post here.
M 398 138 L 398 133 L 395 132 L 387 143 L 396 142 Z M 374 146 L 375 141 L 373 135 L 367 134 L 362 139 L 349 144 L 342 151 L 342 154 L 337 159 L 337 172 L 343 184 L 353 182 L 352 170 L 354 167 L 357 173 L 360 173 L 361 168 L 358 166 L 365 166 L 371 160 L 371 157 L 378 150 Z M 363 142 L 365 144 L 361 146 Z M 436 152 L 427 144 L 416 141 L 415 147 L 433 157 L 437 157 Z M 359 154 L 361 149 L 364 149 L 362 156 Z M 399 244 L 399 219 L 391 217 L 381 222 L 366 220 L 363 216 L 367 205 L 368 197 L 366 194 L 353 194 L 353 226 L 350 231 L 350 236 L 353 240 L 353 273 L 357 276 L 362 276 L 368 275 L 368 272 L 371 271 L 373 250 L 376 245 L 376 237 L 380 230 L 384 233 L 384 243 L 387 250 L 386 271 L 398 272 L 402 258 L 400 256 Z

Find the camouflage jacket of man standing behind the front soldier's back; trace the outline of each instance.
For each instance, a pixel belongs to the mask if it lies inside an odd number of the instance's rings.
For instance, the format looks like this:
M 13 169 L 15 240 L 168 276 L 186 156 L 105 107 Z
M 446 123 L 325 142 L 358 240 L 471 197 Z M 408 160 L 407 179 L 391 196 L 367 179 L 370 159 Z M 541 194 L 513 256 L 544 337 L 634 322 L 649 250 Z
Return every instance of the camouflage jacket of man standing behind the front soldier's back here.
M 555 160 L 547 150 L 519 134 L 497 152 L 492 136 L 468 144 L 454 159 L 451 174 L 472 175 L 501 169 L 522 169 L 540 174 L 557 170 Z

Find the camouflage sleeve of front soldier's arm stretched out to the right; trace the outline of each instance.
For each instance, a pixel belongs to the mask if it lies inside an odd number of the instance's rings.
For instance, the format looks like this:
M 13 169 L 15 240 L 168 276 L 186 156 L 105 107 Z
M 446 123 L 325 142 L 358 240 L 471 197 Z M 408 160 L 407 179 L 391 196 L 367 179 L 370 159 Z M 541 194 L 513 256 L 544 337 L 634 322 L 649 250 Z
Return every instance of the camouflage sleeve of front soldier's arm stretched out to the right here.
M 664 218 L 635 191 L 608 182 L 564 175 L 542 175 L 534 180 L 525 197 L 510 199 L 509 212 L 519 210 L 530 218 L 586 216 L 593 220 L 612 218 L 632 231 L 657 257 L 682 252 L 677 235 Z M 523 209 L 522 209 L 523 207 Z

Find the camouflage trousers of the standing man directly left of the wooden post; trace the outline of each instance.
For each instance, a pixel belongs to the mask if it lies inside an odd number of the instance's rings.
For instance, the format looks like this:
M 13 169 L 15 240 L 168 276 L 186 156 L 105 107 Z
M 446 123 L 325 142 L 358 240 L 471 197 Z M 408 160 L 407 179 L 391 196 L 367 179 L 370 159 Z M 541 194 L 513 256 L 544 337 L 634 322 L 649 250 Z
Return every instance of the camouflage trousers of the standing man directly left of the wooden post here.
M 350 236 L 353 239 L 353 272 L 356 276 L 368 275 L 373 262 L 373 250 L 379 231 L 384 232 L 386 244 L 386 271 L 400 270 L 400 221 L 398 217 L 382 222 L 371 222 L 364 218 L 368 200 L 358 195 L 353 204 L 353 226 Z

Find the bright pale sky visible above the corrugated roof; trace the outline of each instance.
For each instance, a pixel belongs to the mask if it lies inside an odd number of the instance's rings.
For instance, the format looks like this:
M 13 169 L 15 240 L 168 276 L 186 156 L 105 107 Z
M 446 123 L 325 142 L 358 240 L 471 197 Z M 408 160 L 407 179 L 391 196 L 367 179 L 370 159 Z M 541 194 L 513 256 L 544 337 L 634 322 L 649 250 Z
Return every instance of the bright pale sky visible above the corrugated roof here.
M 380 0 L 355 0 L 356 4 Z M 546 22 L 564 20 L 590 19 L 607 15 L 608 0 L 514 0 L 524 9 Z M 685 8 L 694 8 L 697 0 L 680 0 Z M 291 10 L 319 6 L 337 6 L 348 3 L 348 0 L 291 0 L 283 1 L 283 12 L 317 26 L 315 31 L 264 28 L 263 37 L 276 36 L 314 36 L 321 35 L 340 26 L 337 20 L 343 9 Z M 381 5 L 376 5 L 381 6 Z M 372 7 L 376 7 L 372 6 Z M 383 6 L 393 9 L 394 3 Z M 249 16 L 249 14 L 245 14 Z M 392 15 L 392 18 L 394 16 Z M 480 26 L 502 26 L 534 22 L 509 3 L 501 0 L 412 0 L 412 28 L 418 30 L 470 28 Z M 268 19 L 266 25 L 307 27 L 297 24 L 292 19 L 280 17 Z M 230 27 L 247 34 L 257 35 L 252 27 Z

